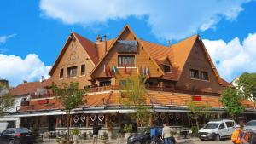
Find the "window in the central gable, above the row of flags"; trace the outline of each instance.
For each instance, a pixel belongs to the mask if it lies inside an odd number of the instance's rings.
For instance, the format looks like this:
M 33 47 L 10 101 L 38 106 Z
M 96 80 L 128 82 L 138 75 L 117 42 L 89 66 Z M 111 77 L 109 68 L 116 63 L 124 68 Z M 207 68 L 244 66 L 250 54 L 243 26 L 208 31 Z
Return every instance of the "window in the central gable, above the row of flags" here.
M 132 65 L 126 65 L 126 68 L 136 68 L 136 56 L 135 55 L 132 55 L 132 54 L 120 54 L 118 55 L 118 58 L 117 58 L 117 68 L 125 68 L 125 64 L 123 63 L 127 63 L 128 60 L 130 60 L 130 63 L 132 63 L 131 59 L 127 59 L 127 57 L 130 57 L 130 58 L 133 58 L 133 64 Z M 126 62 L 124 62 L 124 58 Z M 121 63 L 119 64 L 119 61 L 121 60 Z

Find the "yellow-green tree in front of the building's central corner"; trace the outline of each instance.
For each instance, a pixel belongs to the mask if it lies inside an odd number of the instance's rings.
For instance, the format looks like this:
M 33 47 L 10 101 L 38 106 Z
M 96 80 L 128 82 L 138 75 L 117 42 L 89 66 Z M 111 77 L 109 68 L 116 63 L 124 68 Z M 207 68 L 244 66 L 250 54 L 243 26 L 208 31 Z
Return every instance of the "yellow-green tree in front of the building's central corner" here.
M 147 89 L 145 82 L 147 78 L 143 76 L 130 76 L 125 78 L 125 84 L 121 87 L 122 101 L 127 107 L 134 107 L 136 113 L 131 114 L 137 119 L 137 124 L 148 121 L 150 107 L 147 106 Z

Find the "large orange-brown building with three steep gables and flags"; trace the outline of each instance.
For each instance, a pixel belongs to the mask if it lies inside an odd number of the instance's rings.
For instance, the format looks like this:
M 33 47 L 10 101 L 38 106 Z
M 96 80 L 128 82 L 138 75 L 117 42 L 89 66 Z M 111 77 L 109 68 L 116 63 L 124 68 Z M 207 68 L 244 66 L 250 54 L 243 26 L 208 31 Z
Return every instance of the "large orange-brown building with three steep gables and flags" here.
M 129 113 L 135 112 L 120 102 L 119 86 L 137 74 L 148 77 L 146 97 L 154 113 L 154 118 L 148 118 L 150 123 L 190 126 L 189 101 L 197 106 L 207 103 L 212 107 L 211 118 L 229 117 L 219 102 L 220 91 L 229 83 L 219 76 L 200 36 L 164 46 L 137 38 L 129 26 L 115 39 L 97 36 L 96 43 L 72 32 L 49 72 L 51 77 L 42 83 L 45 94 L 31 95 L 15 116 L 20 117 L 21 126 L 66 130 L 65 111 L 50 93 L 50 84 L 79 82 L 79 89 L 90 89 L 84 106 L 72 112 L 72 126 L 91 130 L 98 120 L 118 130 L 134 121 Z M 253 106 L 244 103 L 244 113 L 253 118 Z

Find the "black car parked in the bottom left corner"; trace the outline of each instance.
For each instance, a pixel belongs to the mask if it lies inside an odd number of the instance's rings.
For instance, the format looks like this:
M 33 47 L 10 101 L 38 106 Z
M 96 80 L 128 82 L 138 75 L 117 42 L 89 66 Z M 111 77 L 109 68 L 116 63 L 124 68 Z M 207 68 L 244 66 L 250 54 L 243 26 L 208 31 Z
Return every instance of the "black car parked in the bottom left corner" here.
M 26 128 L 9 128 L 0 134 L 0 144 L 33 144 L 35 140 Z

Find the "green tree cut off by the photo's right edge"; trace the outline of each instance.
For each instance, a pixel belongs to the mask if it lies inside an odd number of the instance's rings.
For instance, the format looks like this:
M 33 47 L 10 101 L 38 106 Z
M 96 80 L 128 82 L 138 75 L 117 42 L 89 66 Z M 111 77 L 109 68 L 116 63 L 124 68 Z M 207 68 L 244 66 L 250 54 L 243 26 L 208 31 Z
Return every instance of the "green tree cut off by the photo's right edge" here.
M 250 101 L 253 101 L 254 109 L 256 105 L 256 73 L 244 72 L 240 78 L 235 82 L 237 89 L 240 90 L 241 95 Z

